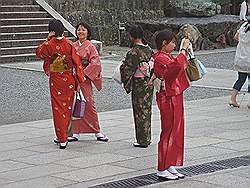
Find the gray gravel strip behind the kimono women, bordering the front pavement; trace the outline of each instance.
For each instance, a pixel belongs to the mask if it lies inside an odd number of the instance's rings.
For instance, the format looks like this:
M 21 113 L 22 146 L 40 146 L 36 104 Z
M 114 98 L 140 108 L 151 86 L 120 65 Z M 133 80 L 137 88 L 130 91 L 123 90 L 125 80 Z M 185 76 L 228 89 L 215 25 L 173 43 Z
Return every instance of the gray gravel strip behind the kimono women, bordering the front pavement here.
M 43 73 L 0 68 L 0 75 L 0 125 L 52 118 L 48 80 Z M 185 100 L 228 94 L 225 90 L 191 87 Z M 98 112 L 131 108 L 130 95 L 110 79 L 104 79 L 102 92 L 95 90 L 95 99 Z

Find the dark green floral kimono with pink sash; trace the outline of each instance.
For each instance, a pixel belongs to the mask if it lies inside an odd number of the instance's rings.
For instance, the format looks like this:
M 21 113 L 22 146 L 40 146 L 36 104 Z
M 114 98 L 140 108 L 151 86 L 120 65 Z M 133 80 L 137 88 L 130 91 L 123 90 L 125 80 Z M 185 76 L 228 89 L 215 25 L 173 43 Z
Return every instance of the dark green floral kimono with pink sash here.
M 121 81 L 127 93 L 132 91 L 132 107 L 137 143 L 148 146 L 151 143 L 151 110 L 153 100 L 149 76 L 139 70 L 143 63 L 149 62 L 153 51 L 148 46 L 135 45 L 126 55 L 120 67 Z

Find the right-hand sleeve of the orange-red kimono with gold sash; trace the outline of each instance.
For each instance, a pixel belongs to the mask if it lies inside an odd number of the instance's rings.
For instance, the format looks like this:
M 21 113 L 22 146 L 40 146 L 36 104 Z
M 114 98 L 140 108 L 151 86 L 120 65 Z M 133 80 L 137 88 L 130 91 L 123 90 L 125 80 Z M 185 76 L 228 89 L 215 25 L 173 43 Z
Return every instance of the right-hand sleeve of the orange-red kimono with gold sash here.
M 77 54 L 76 49 L 72 46 L 72 60 L 75 64 L 75 70 L 76 70 L 76 77 L 79 81 L 79 83 L 82 83 L 85 81 L 84 73 L 83 73 L 83 67 L 81 64 L 81 58 Z

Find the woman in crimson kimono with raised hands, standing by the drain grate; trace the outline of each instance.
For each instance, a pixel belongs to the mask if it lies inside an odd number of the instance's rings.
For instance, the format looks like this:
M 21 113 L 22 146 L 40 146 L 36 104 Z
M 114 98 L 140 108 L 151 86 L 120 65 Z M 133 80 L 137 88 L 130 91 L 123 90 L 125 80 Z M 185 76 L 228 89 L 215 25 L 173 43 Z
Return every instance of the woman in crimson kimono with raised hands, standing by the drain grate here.
M 154 74 L 163 84 L 156 93 L 161 116 L 161 134 L 158 143 L 158 172 L 160 178 L 175 180 L 184 178 L 175 166 L 183 165 L 184 158 L 184 104 L 183 92 L 189 87 L 185 73 L 188 65 L 189 39 L 184 39 L 177 57 L 175 35 L 169 30 L 160 31 L 155 37 L 158 52 L 153 55 Z

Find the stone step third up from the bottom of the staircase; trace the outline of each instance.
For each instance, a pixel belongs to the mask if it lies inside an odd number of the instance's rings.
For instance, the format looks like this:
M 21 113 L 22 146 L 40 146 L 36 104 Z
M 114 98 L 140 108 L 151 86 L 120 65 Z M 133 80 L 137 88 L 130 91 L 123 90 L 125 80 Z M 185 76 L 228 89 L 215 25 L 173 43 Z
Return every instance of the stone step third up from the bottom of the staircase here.
M 1 48 L 10 48 L 18 46 L 38 46 L 45 39 L 25 39 L 25 40 L 4 40 L 0 41 Z

